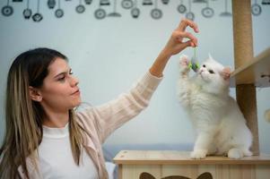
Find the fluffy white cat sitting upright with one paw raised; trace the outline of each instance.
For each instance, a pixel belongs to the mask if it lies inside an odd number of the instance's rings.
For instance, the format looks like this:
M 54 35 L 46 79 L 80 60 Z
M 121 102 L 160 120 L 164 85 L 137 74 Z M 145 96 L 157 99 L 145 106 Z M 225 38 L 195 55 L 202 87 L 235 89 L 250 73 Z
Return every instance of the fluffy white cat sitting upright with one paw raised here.
M 230 68 L 209 55 L 196 75 L 189 78 L 188 62 L 187 55 L 180 57 L 178 96 L 196 129 L 191 158 L 251 156 L 252 134 L 236 101 L 229 96 Z

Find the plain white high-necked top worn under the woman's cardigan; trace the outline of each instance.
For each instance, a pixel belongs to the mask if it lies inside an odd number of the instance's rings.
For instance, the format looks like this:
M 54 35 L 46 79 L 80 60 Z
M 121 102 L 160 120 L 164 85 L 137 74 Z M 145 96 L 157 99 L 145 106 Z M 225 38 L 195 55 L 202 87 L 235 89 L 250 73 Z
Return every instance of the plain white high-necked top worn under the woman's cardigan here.
M 80 166 L 72 155 L 68 124 L 64 128 L 43 126 L 43 139 L 39 145 L 40 173 L 44 179 L 96 179 L 97 168 L 83 149 Z

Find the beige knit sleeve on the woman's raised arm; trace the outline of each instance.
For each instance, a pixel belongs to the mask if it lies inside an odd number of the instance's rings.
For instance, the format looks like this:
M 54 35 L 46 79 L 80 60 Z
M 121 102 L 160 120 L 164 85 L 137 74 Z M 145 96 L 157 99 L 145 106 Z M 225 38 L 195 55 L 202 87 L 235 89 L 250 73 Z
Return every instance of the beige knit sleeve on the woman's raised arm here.
M 148 106 L 150 98 L 161 80 L 162 78 L 146 72 L 143 78 L 137 81 L 127 93 L 121 94 L 118 98 L 104 105 L 85 111 L 83 114 L 84 123 L 87 124 L 87 120 L 93 120 L 88 123 L 94 125 L 100 142 L 103 143 L 111 132 L 114 132 Z

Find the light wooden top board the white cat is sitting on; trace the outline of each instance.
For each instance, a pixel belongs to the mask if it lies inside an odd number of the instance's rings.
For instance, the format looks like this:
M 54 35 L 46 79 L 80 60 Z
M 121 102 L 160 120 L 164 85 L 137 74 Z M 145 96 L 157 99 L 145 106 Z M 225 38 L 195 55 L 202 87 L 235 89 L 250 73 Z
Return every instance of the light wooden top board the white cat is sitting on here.
M 189 154 L 175 150 L 121 150 L 114 162 L 118 165 L 270 165 L 270 155 L 241 159 L 216 156 L 191 159 Z

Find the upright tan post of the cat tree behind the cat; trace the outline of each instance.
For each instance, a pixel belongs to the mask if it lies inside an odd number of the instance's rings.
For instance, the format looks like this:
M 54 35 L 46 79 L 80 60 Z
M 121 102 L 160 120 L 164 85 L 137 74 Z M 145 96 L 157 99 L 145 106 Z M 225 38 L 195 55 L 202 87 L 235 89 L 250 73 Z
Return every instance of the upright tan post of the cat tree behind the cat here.
M 233 17 L 234 64 L 237 69 L 254 58 L 251 2 L 250 0 L 231 0 L 231 5 Z M 259 155 L 255 85 L 236 85 L 236 98 L 240 106 L 240 110 L 247 119 L 248 128 L 253 134 L 251 150 L 254 155 Z

